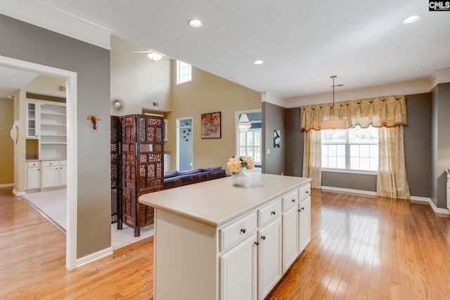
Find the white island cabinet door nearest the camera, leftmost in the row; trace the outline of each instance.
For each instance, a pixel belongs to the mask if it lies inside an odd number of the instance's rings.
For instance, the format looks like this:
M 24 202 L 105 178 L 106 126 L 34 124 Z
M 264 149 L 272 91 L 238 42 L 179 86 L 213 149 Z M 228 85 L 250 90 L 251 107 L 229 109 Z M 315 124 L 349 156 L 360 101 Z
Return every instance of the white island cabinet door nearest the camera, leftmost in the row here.
M 255 234 L 220 256 L 220 299 L 255 300 L 256 242 Z

